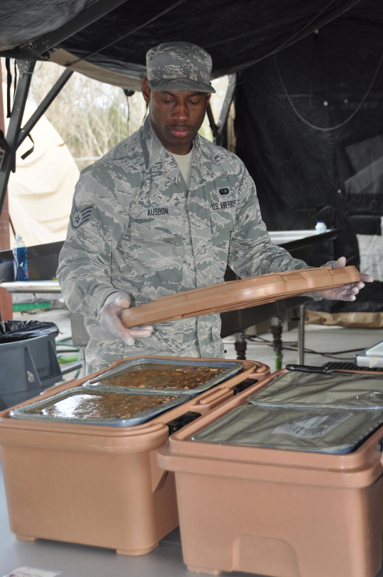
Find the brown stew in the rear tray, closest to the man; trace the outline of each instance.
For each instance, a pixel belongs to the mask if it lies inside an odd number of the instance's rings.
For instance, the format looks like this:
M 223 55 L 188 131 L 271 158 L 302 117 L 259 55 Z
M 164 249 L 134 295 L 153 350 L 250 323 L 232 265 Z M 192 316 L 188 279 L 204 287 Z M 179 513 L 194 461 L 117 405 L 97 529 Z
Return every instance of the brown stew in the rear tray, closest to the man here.
M 99 383 L 113 387 L 150 389 L 195 389 L 227 371 L 226 367 L 157 365 L 99 379 Z

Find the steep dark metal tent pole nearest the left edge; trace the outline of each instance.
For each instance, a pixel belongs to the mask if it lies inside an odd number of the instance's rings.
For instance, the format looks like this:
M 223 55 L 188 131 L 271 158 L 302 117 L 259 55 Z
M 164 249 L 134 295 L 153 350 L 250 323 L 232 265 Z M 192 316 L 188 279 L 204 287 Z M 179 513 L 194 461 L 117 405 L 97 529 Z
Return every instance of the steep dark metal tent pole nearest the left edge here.
M 22 115 L 24 114 L 25 103 L 27 102 L 29 86 L 31 85 L 35 64 L 36 58 L 31 57 L 31 53 L 27 51 L 25 51 L 22 58 L 17 61 L 20 76 L 18 77 L 16 92 L 14 93 L 12 113 L 10 115 L 6 135 L 6 141 L 9 145 L 10 151 L 6 152 L 2 149 L 2 156 L 0 158 L 0 214 L 3 208 L 9 175 L 11 170 L 14 171 Z

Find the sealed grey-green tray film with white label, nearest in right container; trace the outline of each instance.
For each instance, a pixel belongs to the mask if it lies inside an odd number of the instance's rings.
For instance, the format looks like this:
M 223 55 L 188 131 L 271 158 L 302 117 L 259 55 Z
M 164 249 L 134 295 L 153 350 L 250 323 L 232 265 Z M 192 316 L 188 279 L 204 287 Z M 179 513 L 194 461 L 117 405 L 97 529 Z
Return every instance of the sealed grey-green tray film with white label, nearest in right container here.
M 383 421 L 383 411 L 371 409 L 302 409 L 298 407 L 236 407 L 192 437 L 193 441 L 348 453 Z

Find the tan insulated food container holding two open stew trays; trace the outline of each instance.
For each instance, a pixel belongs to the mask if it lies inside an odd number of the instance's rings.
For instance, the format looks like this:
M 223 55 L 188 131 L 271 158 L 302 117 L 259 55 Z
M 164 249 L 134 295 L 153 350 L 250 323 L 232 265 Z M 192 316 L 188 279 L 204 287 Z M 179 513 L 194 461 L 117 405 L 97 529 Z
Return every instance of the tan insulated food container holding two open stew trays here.
M 23 406 L 106 370 L 52 387 Z M 0 455 L 11 530 L 28 541 L 55 539 L 127 555 L 148 553 L 178 526 L 174 475 L 156 461 L 156 449 L 169 436 L 167 423 L 174 426 L 191 411 L 205 415 L 234 396 L 239 383 L 261 383 L 269 372 L 260 362 L 243 361 L 231 379 L 152 421 L 126 428 L 16 419 L 10 409 L 2 411 Z

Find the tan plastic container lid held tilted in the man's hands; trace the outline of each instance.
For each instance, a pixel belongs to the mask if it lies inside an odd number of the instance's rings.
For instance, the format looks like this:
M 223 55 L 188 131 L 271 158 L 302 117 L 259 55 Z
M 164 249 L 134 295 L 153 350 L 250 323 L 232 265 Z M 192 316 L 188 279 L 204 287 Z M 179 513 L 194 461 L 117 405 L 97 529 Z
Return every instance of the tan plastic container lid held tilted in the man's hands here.
M 316 293 L 358 280 L 361 280 L 361 275 L 355 267 L 304 268 L 297 271 L 272 272 L 157 298 L 145 305 L 123 310 L 121 320 L 126 328 L 130 328 L 203 314 L 222 313 L 227 310 L 246 309 L 282 298 Z

